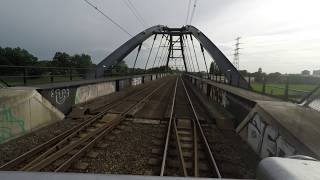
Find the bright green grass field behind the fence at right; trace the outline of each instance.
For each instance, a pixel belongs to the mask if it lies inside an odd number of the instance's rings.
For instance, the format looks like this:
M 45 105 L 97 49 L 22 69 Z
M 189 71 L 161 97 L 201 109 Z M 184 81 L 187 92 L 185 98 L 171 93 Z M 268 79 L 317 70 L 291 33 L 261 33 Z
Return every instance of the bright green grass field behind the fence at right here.
M 317 85 L 310 84 L 289 84 L 289 98 L 301 98 L 311 92 Z M 254 91 L 262 92 L 262 83 L 252 83 L 251 87 Z M 266 84 L 266 94 L 274 96 L 284 96 L 285 84 Z

